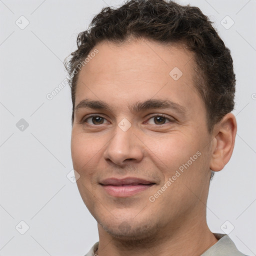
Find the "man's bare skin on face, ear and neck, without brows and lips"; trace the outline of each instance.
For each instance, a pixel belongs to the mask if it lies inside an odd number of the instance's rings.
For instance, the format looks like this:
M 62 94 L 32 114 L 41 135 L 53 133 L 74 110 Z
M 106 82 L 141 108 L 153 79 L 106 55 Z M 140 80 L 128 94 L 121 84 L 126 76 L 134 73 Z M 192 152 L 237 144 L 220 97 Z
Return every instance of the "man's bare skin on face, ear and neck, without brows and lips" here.
M 81 197 L 98 222 L 97 254 L 200 255 L 217 241 L 206 223 L 210 169 L 221 170 L 231 156 L 235 117 L 228 113 L 208 132 L 205 105 L 193 85 L 193 55 L 181 45 L 138 39 L 118 45 L 103 41 L 95 48 L 98 53 L 79 73 L 75 106 L 87 99 L 110 108 L 75 111 L 71 155 Z M 182 71 L 177 80 L 169 75 L 174 67 Z M 171 100 L 184 111 L 132 109 L 149 99 Z M 159 114 L 166 117 L 162 124 L 154 118 Z M 123 118 L 131 124 L 126 131 L 118 126 Z M 166 185 L 196 152 L 200 155 Z M 109 177 L 155 184 L 116 197 L 99 184 Z

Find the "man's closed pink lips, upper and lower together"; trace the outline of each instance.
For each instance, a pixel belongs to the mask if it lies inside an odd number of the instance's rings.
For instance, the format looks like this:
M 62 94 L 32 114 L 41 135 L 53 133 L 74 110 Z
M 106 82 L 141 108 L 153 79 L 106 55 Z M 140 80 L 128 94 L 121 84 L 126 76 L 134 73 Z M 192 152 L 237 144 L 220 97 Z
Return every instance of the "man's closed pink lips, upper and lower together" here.
M 107 178 L 99 182 L 103 189 L 114 197 L 128 197 L 150 188 L 155 182 L 136 177 Z

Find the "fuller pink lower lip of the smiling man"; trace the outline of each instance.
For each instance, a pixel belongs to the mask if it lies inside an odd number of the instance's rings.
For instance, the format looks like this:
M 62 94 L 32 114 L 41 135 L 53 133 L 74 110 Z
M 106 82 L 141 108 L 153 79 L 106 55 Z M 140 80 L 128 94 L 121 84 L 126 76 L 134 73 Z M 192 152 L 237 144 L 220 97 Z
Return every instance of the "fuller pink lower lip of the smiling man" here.
M 105 191 L 115 197 L 126 197 L 134 195 L 138 192 L 144 191 L 151 187 L 153 184 L 149 185 L 124 185 L 124 186 L 114 186 L 114 185 L 102 185 Z

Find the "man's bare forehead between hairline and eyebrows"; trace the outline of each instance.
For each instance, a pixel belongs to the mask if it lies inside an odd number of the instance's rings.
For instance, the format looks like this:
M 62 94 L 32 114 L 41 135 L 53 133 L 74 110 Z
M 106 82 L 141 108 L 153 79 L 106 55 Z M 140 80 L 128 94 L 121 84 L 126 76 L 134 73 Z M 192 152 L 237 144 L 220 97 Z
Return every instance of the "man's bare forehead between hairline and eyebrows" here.
M 193 53 L 182 45 L 137 39 L 102 41 L 91 52 L 95 49 L 78 74 L 76 105 L 85 97 L 111 104 L 120 98 L 118 104 L 152 97 L 171 97 L 177 103 L 188 97 L 200 100 L 194 87 Z

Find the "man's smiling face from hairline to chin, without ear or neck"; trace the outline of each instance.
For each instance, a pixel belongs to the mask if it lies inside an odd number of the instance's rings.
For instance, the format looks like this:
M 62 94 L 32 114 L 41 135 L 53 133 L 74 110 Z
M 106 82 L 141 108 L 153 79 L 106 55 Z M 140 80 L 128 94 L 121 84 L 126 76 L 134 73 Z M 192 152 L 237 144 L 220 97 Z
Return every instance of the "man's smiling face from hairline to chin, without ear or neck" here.
M 205 214 L 210 177 L 211 134 L 193 55 L 146 40 L 96 49 L 75 95 L 75 106 L 85 100 L 71 137 L 81 197 L 113 236 L 182 229 Z

